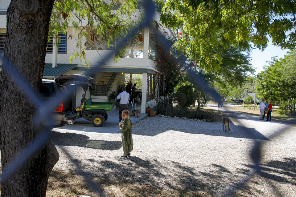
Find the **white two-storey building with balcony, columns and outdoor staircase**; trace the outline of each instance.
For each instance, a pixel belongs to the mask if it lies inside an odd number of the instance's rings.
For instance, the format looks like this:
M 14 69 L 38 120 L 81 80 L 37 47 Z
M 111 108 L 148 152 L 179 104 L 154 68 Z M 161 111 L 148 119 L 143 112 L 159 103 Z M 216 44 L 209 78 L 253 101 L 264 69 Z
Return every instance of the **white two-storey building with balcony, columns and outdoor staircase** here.
M 10 4 L 10 0 L 0 0 L 0 55 L 3 55 L 5 34 L 6 34 L 6 10 Z M 159 21 L 159 14 L 153 16 L 155 21 Z M 64 35 L 60 34 L 61 42 L 59 48 L 53 46 L 51 42 L 47 43 L 47 54 L 45 57 L 45 66 L 43 78 L 54 79 L 57 76 L 64 74 L 83 73 L 92 76 L 96 79 L 97 84 L 92 92 L 88 92 L 86 98 L 91 98 L 97 102 L 110 102 L 114 98 L 114 94 L 118 94 L 118 90 L 124 83 L 124 74 L 143 74 L 142 83 L 142 104 L 141 113 L 145 113 L 146 102 L 155 105 L 155 100 L 152 99 L 152 94 L 158 95 L 158 84 L 153 80 L 157 75 L 155 54 L 157 51 L 154 48 L 154 42 L 151 36 L 154 36 L 153 27 L 146 26 L 142 29 L 142 42 L 135 42 L 127 47 L 130 54 L 121 57 L 118 62 L 113 61 L 113 57 L 104 59 L 105 55 L 110 53 L 112 49 L 104 41 L 93 43 L 86 50 L 86 57 L 92 63 L 90 69 L 86 69 L 84 62 L 73 59 L 70 62 L 72 52 L 76 50 L 76 40 L 68 38 L 69 34 L 77 36 L 80 30 L 75 30 L 72 26 L 68 26 L 68 32 Z M 167 32 L 171 30 L 167 30 Z M 87 39 L 87 38 L 85 38 Z M 99 49 L 98 54 L 97 50 Z M 138 53 L 141 51 L 141 53 Z M 102 58 L 103 57 L 103 58 Z M 98 67 L 99 66 L 99 67 Z M 2 62 L 0 62 L 0 71 L 2 70 Z M 105 82 L 106 91 L 101 90 L 101 82 Z M 107 86 L 109 82 L 109 85 Z M 155 92 L 152 92 L 152 85 L 156 86 Z M 80 105 L 81 95 L 84 91 L 79 88 L 76 90 L 76 106 Z M 112 97 L 113 95 L 113 97 Z M 113 101 L 113 100 L 112 100 Z

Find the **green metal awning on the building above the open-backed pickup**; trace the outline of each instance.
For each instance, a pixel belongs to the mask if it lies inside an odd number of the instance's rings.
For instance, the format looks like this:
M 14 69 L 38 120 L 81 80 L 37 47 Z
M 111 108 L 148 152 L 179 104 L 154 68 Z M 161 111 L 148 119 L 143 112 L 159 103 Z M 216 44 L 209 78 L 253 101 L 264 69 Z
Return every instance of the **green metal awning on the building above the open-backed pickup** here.
M 77 64 L 58 64 L 55 68 L 52 67 L 52 63 L 45 63 L 43 70 L 43 78 L 55 78 L 66 72 L 76 68 Z

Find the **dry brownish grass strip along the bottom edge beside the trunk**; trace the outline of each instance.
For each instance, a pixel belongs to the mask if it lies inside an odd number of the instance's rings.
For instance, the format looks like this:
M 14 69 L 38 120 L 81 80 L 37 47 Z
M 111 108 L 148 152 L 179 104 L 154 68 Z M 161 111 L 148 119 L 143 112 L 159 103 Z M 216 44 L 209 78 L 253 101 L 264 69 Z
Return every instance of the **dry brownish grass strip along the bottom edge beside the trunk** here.
M 130 184 L 93 177 L 92 181 L 102 188 L 107 197 L 210 197 L 206 191 L 165 190 L 147 183 Z M 76 197 L 77 195 L 98 195 L 89 188 L 82 176 L 53 170 L 48 180 L 46 197 Z

